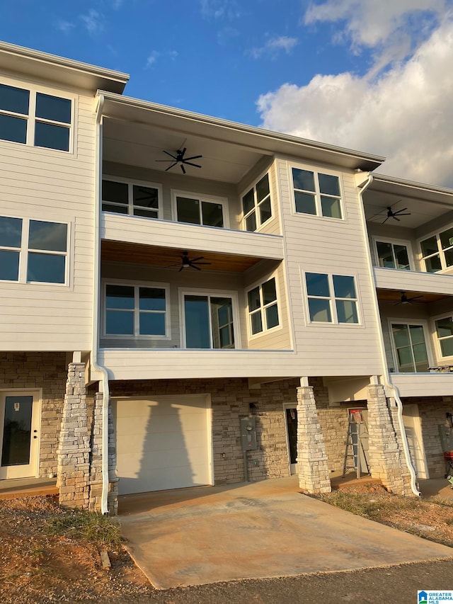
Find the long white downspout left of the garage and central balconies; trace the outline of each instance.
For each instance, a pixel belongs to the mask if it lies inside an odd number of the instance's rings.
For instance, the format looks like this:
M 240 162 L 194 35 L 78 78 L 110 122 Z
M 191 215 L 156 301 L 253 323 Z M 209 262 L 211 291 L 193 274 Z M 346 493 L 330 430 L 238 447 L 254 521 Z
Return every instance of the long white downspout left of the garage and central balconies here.
M 91 368 L 102 375 L 102 414 L 101 414 L 101 467 L 102 467 L 102 494 L 101 513 L 108 515 L 108 401 L 110 391 L 108 387 L 108 372 L 105 367 L 98 365 L 98 336 L 99 336 L 99 290 L 101 276 L 101 173 L 102 173 L 102 115 L 104 97 L 98 96 L 96 110 L 96 168 L 94 181 L 94 250 L 93 250 L 93 329 L 91 330 Z

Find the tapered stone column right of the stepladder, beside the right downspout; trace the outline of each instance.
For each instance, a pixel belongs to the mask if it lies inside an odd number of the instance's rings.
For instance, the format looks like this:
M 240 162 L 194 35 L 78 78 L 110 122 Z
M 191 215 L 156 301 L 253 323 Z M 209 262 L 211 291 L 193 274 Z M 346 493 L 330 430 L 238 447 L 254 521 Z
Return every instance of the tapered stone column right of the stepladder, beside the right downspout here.
M 369 466 L 373 478 L 392 493 L 414 495 L 411 476 L 403 452 L 401 430 L 396 417 L 397 409 L 389 409 L 384 386 L 368 388 Z

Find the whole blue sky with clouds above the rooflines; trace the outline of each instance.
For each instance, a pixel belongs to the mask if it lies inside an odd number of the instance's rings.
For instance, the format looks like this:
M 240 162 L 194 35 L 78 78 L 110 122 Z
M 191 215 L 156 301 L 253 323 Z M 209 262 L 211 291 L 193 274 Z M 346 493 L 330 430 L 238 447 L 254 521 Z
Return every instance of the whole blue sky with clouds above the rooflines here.
M 453 0 L 4 0 L 0 39 L 126 94 L 382 154 L 453 186 Z

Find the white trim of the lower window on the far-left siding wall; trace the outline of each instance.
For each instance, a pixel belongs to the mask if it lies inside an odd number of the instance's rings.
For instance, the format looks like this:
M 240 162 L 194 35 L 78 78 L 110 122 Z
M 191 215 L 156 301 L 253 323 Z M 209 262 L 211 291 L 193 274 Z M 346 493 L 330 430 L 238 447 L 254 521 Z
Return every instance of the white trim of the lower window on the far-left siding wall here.
M 18 280 L 11 281 L 6 279 L 0 280 L 1 284 L 11 284 L 15 285 L 33 285 L 33 287 L 69 287 L 70 285 L 70 275 L 72 273 L 72 263 L 74 261 L 74 254 L 71 253 L 72 246 L 72 222 L 67 220 L 43 220 L 41 218 L 36 217 L 23 217 L 23 216 L 11 216 L 6 213 L 1 214 L 1 217 L 5 218 L 18 218 L 22 220 L 22 234 L 21 234 L 21 247 L 20 248 L 8 248 L 6 246 L 0 246 L 0 249 L 6 251 L 18 251 L 19 252 L 19 273 Z M 64 263 L 64 283 L 52 283 L 52 281 L 28 281 L 27 280 L 27 269 L 28 269 L 28 234 L 30 232 L 30 220 L 38 221 L 38 222 L 50 222 L 52 224 L 66 224 L 67 232 L 66 232 L 66 252 L 62 251 L 52 251 L 52 250 L 35 250 L 34 248 L 30 249 L 33 253 L 37 251 L 38 253 L 49 254 L 53 256 L 64 256 L 66 261 Z

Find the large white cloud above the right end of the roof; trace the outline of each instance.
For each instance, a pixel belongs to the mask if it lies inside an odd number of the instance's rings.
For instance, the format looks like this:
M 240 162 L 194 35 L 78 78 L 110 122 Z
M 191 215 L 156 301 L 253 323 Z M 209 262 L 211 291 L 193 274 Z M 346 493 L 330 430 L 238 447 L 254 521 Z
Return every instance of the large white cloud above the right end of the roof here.
M 382 154 L 384 173 L 453 187 L 452 65 L 453 16 L 446 15 L 406 62 L 377 77 L 316 75 L 306 86 L 263 94 L 262 125 Z

